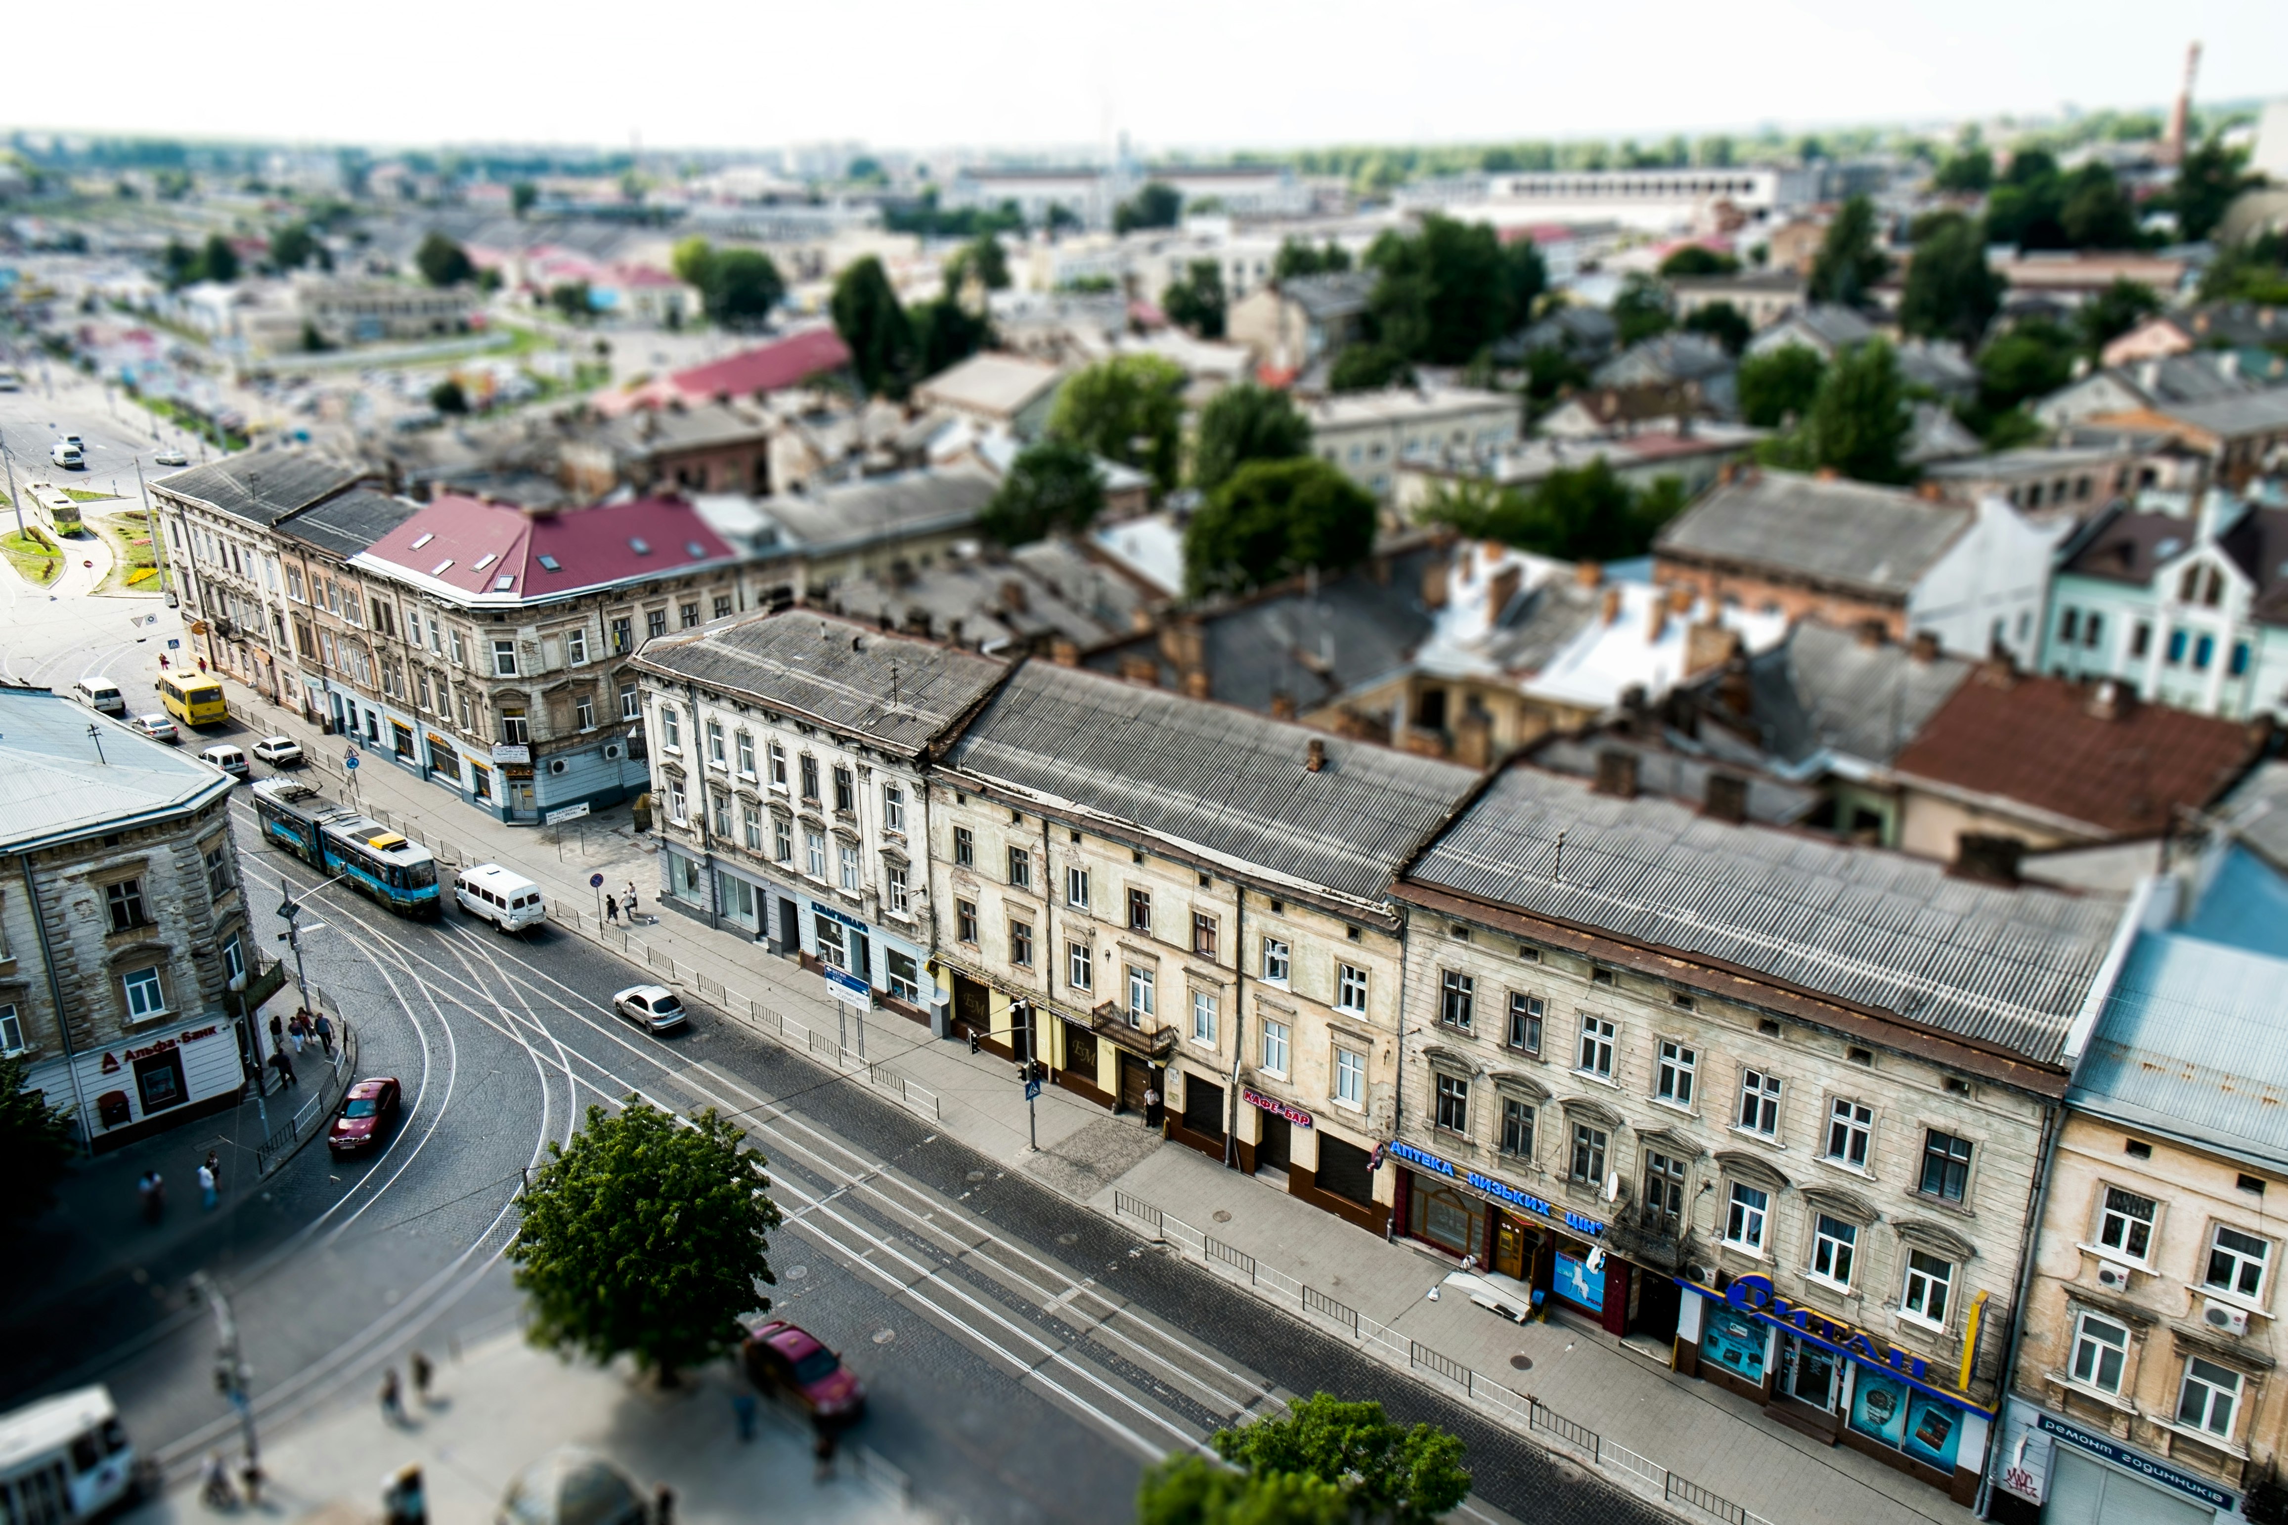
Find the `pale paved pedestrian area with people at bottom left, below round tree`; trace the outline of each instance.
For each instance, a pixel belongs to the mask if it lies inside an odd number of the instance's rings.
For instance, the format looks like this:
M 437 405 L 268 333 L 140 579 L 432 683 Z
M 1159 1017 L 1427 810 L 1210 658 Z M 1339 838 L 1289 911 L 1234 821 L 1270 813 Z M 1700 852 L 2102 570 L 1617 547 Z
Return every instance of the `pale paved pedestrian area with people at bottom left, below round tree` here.
M 407 1461 L 421 1463 L 428 1518 L 437 1525 L 487 1525 L 519 1470 L 561 1445 L 583 1445 L 618 1463 L 643 1491 L 675 1488 L 675 1514 L 689 1525 L 757 1518 L 757 1500 L 776 1500 L 780 1518 L 817 1525 L 874 1525 L 924 1518 L 904 1502 L 904 1479 L 883 1463 L 837 1459 L 817 1482 L 810 1431 L 762 1404 L 755 1438 L 739 1440 L 732 1413 L 737 1379 L 721 1363 L 661 1390 L 625 1363 L 563 1363 L 524 1344 L 510 1328 L 437 1363 L 430 1404 L 407 1383 L 405 1422 L 387 1422 L 378 1383 L 336 1390 L 263 1440 L 270 1486 L 259 1509 L 215 1511 L 199 1482 L 176 1486 L 156 1504 L 126 1516 L 135 1525 L 210 1525 L 240 1520 L 357 1523 L 380 1518 L 382 1479 Z M 236 1436 L 224 1459 L 238 1461 Z

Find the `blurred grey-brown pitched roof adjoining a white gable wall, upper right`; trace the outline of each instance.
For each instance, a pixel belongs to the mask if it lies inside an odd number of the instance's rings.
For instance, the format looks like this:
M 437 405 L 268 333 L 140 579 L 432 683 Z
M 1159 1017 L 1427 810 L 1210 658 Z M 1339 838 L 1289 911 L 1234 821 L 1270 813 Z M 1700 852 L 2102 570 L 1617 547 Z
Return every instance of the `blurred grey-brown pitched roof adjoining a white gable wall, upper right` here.
M 1897 487 L 1762 471 L 1702 498 L 1661 530 L 1654 553 L 1906 597 L 1972 517 Z

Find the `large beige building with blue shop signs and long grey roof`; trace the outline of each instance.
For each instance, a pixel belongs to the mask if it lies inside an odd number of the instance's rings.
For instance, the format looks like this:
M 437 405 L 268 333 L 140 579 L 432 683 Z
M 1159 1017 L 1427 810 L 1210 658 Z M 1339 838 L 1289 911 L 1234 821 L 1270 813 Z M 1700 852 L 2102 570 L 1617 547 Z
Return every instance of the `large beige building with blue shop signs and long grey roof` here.
M 1970 1502 L 2116 901 L 1528 766 L 1398 878 L 1396 1230 Z

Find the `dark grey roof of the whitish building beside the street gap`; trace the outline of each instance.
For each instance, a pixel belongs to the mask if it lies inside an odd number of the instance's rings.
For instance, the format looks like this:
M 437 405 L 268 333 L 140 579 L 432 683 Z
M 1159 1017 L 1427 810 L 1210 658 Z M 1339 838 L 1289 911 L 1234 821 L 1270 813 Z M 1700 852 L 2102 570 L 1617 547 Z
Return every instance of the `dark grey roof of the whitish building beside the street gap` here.
M 908 754 L 1009 670 L 991 656 L 792 608 L 661 636 L 643 647 L 636 668 L 799 711 Z

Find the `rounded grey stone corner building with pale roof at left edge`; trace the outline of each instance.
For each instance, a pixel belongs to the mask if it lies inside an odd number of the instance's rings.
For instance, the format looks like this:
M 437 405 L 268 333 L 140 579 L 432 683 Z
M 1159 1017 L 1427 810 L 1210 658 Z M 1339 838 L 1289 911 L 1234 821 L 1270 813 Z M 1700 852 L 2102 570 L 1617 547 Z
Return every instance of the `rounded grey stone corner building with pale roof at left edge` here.
M 0 686 L 0 1052 L 96 1150 L 233 1107 L 277 990 L 231 780 L 46 688 Z

